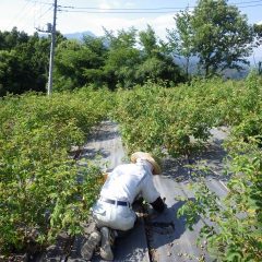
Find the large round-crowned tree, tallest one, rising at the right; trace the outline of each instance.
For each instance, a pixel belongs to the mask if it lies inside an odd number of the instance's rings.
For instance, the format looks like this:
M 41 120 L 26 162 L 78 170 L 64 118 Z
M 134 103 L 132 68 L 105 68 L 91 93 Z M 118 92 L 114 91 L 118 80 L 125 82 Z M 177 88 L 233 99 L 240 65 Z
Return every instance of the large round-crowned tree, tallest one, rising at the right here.
M 253 34 L 237 7 L 226 0 L 200 0 L 190 21 L 194 52 L 205 76 L 248 64 Z

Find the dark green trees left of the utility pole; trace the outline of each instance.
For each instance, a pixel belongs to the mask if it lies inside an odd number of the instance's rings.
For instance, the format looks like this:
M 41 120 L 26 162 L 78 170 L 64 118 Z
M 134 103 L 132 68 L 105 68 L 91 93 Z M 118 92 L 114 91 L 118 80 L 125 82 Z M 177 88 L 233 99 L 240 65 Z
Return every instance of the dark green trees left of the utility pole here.
M 16 28 L 0 32 L 0 96 L 45 92 L 50 40 Z

